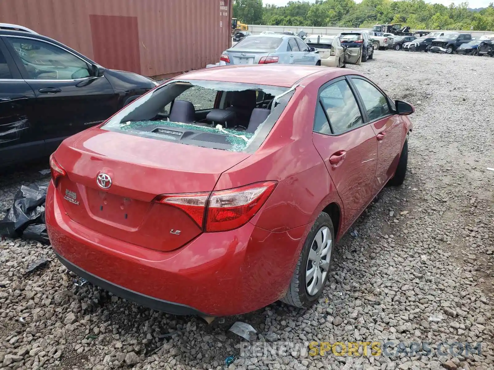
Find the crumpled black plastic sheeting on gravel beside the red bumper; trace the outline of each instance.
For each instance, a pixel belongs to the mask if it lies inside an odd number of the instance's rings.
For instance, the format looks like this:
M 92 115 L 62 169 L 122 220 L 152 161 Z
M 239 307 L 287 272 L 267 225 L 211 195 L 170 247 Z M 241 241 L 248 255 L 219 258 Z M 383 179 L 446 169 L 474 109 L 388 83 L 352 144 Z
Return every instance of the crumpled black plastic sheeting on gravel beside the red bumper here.
M 48 182 L 22 185 L 14 204 L 0 220 L 0 235 L 10 238 L 38 240 L 49 244 L 44 221 L 44 201 Z

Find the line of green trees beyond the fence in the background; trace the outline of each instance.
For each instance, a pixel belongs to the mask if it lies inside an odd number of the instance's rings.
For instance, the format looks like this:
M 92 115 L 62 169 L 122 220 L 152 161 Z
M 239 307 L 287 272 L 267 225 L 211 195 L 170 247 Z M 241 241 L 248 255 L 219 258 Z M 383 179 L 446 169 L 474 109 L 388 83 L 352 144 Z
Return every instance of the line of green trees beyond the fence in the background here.
M 445 6 L 423 0 L 289 1 L 286 6 L 234 0 L 233 16 L 242 23 L 277 26 L 370 28 L 374 24 L 401 23 L 412 30 L 494 31 L 493 3 L 478 10 L 469 9 L 467 2 Z

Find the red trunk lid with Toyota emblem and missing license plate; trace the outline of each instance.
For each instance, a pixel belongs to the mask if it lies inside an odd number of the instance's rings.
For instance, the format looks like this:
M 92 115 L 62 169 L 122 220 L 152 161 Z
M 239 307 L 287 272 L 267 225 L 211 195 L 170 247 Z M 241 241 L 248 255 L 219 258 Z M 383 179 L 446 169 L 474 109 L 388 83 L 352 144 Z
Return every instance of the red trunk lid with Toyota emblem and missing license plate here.
M 57 191 L 74 222 L 170 251 L 199 235 L 202 225 L 178 208 L 154 202 L 156 196 L 209 192 L 222 172 L 248 156 L 95 128 L 66 139 L 56 150 L 55 158 L 67 172 Z M 98 185 L 99 174 L 111 178 L 108 188 Z

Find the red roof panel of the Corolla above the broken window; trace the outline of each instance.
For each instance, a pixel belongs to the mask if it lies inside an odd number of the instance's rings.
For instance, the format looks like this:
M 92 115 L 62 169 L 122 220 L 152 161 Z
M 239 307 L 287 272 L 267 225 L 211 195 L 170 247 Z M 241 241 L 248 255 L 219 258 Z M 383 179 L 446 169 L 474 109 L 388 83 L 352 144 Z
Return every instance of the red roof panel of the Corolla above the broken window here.
M 341 75 L 342 70 L 341 68 L 319 66 L 253 64 L 207 68 L 181 74 L 175 77 L 175 79 L 240 82 L 291 87 L 295 82 L 318 72 L 325 72 L 326 75 L 328 73 L 334 74 L 336 77 L 337 75 Z M 330 75 L 328 77 L 329 79 L 333 78 Z

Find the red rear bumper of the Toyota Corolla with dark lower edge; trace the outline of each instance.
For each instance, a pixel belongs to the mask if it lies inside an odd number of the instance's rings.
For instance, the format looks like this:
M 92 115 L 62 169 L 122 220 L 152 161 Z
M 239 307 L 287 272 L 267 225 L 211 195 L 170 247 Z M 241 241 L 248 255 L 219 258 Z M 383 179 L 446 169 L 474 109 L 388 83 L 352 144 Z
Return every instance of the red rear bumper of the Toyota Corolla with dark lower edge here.
M 247 222 L 235 230 L 200 234 L 163 252 L 72 221 L 64 202 L 51 183 L 46 227 L 61 262 L 117 296 L 173 314 L 236 315 L 278 300 L 310 229 L 271 232 Z

